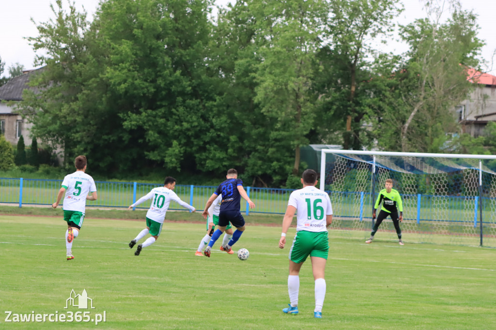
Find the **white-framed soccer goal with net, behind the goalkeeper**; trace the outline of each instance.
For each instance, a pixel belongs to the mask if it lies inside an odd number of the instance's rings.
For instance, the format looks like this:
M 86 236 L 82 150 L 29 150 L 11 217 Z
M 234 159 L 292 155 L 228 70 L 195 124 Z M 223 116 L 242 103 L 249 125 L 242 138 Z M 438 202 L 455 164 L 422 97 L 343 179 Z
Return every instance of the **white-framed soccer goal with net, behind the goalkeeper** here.
M 329 229 L 368 238 L 375 200 L 391 178 L 403 201 L 403 241 L 496 247 L 496 156 L 324 149 L 320 167 Z M 397 239 L 388 217 L 375 240 Z

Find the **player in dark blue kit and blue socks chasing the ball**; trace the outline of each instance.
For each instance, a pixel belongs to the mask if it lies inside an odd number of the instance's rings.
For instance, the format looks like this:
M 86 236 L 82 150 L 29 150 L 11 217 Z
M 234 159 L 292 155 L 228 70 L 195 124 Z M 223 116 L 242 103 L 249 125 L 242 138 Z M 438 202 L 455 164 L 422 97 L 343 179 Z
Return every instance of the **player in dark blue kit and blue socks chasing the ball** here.
M 212 234 L 212 238 L 208 243 L 203 254 L 210 258 L 210 250 L 212 250 L 212 246 L 215 244 L 215 241 L 222 235 L 224 230 L 226 230 L 226 226 L 231 222 L 233 226 L 236 227 L 236 231 L 233 233 L 233 237 L 229 241 L 226 246 L 223 246 L 223 250 L 226 252 L 231 251 L 231 246 L 234 245 L 240 239 L 241 234 L 245 231 L 245 219 L 240 212 L 240 201 L 241 197 L 243 197 L 249 204 L 250 209 L 255 207 L 255 204 L 249 199 L 245 188 L 243 188 L 243 181 L 238 179 L 238 171 L 234 168 L 231 168 L 227 171 L 226 175 L 227 180 L 222 182 L 217 190 L 210 196 L 205 204 L 205 211 L 203 211 L 203 218 L 207 219 L 208 217 L 208 208 L 212 205 L 213 201 L 222 194 L 222 204 L 220 205 L 220 213 L 219 213 L 219 226 L 217 230 Z

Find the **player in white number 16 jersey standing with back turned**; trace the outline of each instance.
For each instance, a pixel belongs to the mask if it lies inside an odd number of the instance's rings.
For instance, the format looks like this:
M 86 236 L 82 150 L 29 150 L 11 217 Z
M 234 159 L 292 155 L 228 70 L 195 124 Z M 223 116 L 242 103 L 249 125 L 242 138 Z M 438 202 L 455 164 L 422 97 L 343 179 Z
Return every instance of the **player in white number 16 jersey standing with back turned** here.
M 300 269 L 310 255 L 313 279 L 315 280 L 315 309 L 313 317 L 322 318 L 325 298 L 324 270 L 329 251 L 327 226 L 332 222 L 332 206 L 329 195 L 317 189 L 317 172 L 307 169 L 303 172 L 303 189 L 295 190 L 289 197 L 286 214 L 282 221 L 279 248 L 286 244 L 286 233 L 297 212 L 296 236 L 289 251 L 288 292 L 289 307 L 282 311 L 298 314 L 298 293 L 300 291 Z

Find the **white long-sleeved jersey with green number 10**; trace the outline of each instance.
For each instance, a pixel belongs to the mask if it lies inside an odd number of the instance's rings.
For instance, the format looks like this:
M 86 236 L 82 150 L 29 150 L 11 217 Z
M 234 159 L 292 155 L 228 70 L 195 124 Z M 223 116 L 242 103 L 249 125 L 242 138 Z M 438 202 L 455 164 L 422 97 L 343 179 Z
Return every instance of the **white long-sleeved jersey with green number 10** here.
M 165 214 L 169 209 L 171 201 L 174 201 L 182 207 L 185 207 L 186 209 L 189 209 L 191 211 L 195 210 L 194 207 L 183 202 L 174 191 L 166 187 L 158 187 L 152 189 L 148 194 L 138 199 L 136 203 L 132 204 L 131 206 L 135 207 L 136 205 L 139 205 L 149 199 L 152 200 L 152 204 L 150 205 L 150 208 L 146 213 L 146 218 L 160 223 L 164 223 Z

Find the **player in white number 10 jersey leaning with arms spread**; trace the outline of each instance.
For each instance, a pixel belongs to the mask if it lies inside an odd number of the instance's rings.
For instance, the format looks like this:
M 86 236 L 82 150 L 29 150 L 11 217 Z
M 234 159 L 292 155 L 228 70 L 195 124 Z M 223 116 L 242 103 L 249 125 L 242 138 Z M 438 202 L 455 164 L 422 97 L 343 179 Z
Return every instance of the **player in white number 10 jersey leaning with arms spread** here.
M 152 245 L 160 236 L 160 232 L 162 231 L 162 225 L 164 224 L 165 214 L 167 209 L 169 209 L 169 204 L 171 201 L 174 201 L 181 205 L 182 207 L 189 209 L 191 212 L 196 211 L 194 207 L 183 202 L 178 195 L 173 191 L 176 186 L 176 179 L 172 176 L 168 176 L 165 178 L 164 186 L 153 188 L 148 194 L 141 197 L 136 201 L 136 203 L 129 205 L 127 210 L 131 210 L 136 205 L 143 203 L 149 199 L 152 200 L 152 204 L 146 213 L 146 228 L 141 230 L 141 232 L 129 242 L 129 247 L 132 247 L 139 241 L 141 238 L 145 237 L 146 234 L 150 233 L 151 237 L 148 237 L 143 244 L 139 244 L 134 252 L 135 256 L 139 256 L 141 250 L 147 246 Z

